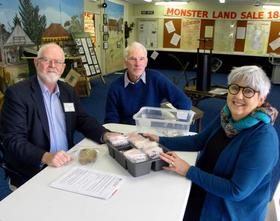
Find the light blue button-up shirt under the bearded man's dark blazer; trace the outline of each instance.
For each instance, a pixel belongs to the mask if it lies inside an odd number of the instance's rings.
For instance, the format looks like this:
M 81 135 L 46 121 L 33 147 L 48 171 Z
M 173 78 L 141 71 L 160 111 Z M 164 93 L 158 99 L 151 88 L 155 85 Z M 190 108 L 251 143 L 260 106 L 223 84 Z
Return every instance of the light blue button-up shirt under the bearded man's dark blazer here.
M 44 83 L 38 78 L 42 90 L 44 104 L 47 112 L 49 131 L 50 131 L 50 152 L 55 153 L 60 150 L 68 150 L 66 137 L 65 114 L 62 104 L 59 100 L 59 87 L 53 93 L 50 93 Z

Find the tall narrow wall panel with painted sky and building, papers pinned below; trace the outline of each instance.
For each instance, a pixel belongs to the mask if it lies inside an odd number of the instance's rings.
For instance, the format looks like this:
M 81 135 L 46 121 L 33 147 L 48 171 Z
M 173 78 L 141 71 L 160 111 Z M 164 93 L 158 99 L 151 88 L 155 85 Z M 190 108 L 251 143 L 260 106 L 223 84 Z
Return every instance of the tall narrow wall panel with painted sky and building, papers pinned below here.
M 109 38 L 106 44 L 103 44 L 103 49 L 106 59 L 105 72 L 111 73 L 123 69 L 124 6 L 110 1 L 106 1 L 106 3 L 107 7 L 104 12 L 107 15 L 106 33 Z

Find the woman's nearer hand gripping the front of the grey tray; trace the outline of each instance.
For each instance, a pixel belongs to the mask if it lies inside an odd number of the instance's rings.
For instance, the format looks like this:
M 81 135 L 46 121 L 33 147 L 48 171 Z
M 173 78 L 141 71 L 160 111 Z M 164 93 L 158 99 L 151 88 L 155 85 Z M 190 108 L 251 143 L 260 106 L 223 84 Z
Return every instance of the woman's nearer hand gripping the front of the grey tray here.
M 164 167 L 165 170 L 174 171 L 181 176 L 186 176 L 190 165 L 186 161 L 181 159 L 176 153 L 161 153 L 160 158 L 169 164 L 168 167 Z

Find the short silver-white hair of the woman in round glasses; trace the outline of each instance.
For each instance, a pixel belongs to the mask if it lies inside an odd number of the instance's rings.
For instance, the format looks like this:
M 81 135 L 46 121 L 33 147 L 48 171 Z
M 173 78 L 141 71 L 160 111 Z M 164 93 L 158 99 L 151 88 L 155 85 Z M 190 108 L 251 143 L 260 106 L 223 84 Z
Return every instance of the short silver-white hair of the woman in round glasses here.
M 269 93 L 271 83 L 266 73 L 258 66 L 248 65 L 234 67 L 228 75 L 228 84 L 242 82 L 245 86 L 259 91 L 260 96 L 266 97 Z

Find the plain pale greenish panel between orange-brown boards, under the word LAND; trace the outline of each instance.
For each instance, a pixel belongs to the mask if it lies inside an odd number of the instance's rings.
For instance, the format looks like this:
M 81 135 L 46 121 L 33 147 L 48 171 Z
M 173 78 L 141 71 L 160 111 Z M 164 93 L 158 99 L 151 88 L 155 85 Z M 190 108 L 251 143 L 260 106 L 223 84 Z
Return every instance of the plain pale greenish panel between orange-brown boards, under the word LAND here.
M 233 52 L 236 33 L 236 21 L 217 20 L 215 22 L 214 51 Z

